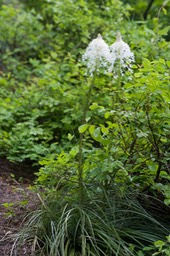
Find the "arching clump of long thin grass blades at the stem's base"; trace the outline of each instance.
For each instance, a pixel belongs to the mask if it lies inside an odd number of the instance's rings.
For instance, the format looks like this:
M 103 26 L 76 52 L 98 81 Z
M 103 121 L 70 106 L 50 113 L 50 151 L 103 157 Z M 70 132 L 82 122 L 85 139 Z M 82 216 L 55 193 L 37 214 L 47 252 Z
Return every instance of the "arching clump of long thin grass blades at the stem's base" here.
M 88 188 L 83 202 L 76 195 L 63 189 L 41 200 L 15 237 L 13 251 L 29 242 L 38 256 L 136 256 L 170 232 L 134 192 Z

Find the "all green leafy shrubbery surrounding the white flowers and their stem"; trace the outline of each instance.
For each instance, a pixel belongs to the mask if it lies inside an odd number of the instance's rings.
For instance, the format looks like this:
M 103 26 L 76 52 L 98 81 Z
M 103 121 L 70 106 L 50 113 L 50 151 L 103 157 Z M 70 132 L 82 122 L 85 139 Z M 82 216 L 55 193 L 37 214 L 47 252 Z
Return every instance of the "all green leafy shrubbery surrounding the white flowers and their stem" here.
M 144 187 L 161 170 L 168 173 L 169 2 L 153 1 L 146 19 L 140 14 L 147 8 L 142 1 L 119 0 L 2 3 L 1 156 L 38 164 L 76 147 L 89 86 L 81 56 L 98 33 L 111 44 L 120 31 L 135 54 L 135 75 L 132 82 L 125 78 L 121 90 L 109 77 L 96 80 L 86 150 L 96 161 L 108 154 L 113 162 L 121 159 L 113 164 L 115 173 L 124 166 Z M 113 93 L 123 95 L 122 100 L 114 102 Z M 76 149 L 71 152 L 76 157 Z M 93 170 L 93 175 L 98 167 L 90 161 L 87 154 L 87 173 Z M 107 173 L 107 164 L 103 168 Z

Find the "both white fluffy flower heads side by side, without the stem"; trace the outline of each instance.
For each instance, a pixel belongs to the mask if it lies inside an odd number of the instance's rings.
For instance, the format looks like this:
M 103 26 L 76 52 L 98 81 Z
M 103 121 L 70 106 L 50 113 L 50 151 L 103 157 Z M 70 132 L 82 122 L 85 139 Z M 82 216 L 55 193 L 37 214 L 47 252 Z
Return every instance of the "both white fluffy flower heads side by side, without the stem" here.
M 117 70 L 116 65 L 118 65 L 121 74 L 123 74 L 124 69 L 131 72 L 134 54 L 131 52 L 129 45 L 122 40 L 119 33 L 117 34 L 116 42 L 110 47 L 105 43 L 101 35 L 98 35 L 88 45 L 83 55 L 83 61 L 86 61 L 91 76 L 101 67 L 105 71 L 115 73 Z

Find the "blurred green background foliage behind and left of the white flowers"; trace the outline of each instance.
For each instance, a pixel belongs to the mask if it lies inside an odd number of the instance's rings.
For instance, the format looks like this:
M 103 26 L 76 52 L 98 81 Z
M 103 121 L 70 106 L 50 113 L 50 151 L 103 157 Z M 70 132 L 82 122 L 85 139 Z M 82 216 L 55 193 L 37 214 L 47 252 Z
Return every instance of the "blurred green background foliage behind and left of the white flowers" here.
M 52 143 L 68 145 L 67 133 L 80 125 L 85 96 L 78 90 L 85 86 L 81 55 L 97 33 L 111 44 L 121 31 L 139 65 L 144 57 L 168 59 L 169 3 L 158 22 L 161 6 L 154 1 L 143 21 L 142 1 L 2 1 L 1 155 L 37 160 Z

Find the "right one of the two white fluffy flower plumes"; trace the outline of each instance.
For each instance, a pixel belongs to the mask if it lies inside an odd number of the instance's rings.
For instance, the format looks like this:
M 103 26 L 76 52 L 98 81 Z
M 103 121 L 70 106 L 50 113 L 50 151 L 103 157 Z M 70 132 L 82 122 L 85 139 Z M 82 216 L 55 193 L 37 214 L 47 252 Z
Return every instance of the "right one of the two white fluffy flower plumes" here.
M 120 33 L 117 34 L 116 42 L 110 46 L 111 51 L 111 70 L 115 63 L 115 59 L 119 62 L 121 73 L 122 69 L 126 69 L 131 72 L 131 64 L 134 62 L 134 54 L 131 52 L 130 47 L 125 43 Z

